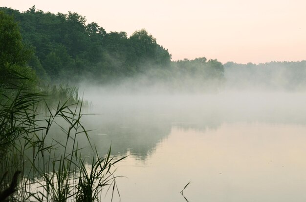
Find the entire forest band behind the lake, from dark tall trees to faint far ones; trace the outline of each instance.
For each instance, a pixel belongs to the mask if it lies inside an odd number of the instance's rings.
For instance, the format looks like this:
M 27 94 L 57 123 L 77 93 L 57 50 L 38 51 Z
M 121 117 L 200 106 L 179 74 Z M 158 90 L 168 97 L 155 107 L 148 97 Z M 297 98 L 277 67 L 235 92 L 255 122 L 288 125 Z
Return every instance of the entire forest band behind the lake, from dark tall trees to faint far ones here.
M 224 88 L 301 90 L 306 83 L 306 61 L 224 65 L 205 57 L 171 60 L 171 54 L 145 29 L 109 32 L 78 13 L 52 14 L 32 6 L 25 12 L 0 7 L 20 32 L 22 74 L 44 84 L 77 86 L 120 84 L 156 86 L 169 91 L 210 91 Z M 5 23 L 5 22 L 2 22 Z M 19 35 L 19 34 L 18 34 Z M 2 40 L 7 40 L 2 38 Z M 3 50 L 8 43 L 1 41 Z M 16 50 L 15 50 L 16 51 Z M 21 54 L 21 53 L 20 53 Z M 126 82 L 129 81 L 129 82 Z M 131 85 L 131 83 L 134 84 Z

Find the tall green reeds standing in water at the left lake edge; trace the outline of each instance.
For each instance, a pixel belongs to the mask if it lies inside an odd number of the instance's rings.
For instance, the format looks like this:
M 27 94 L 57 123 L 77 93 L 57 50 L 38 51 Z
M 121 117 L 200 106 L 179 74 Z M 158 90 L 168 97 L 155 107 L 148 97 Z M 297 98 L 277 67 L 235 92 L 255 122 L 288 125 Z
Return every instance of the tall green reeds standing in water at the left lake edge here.
M 110 149 L 99 157 L 91 144 L 96 157 L 89 167 L 82 158 L 77 138 L 90 140 L 81 123 L 83 102 L 77 88 L 53 86 L 38 92 L 22 85 L 7 86 L 12 85 L 0 84 L 0 202 L 100 201 L 102 189 L 110 186 L 114 194 L 112 166 L 123 158 L 115 161 Z M 45 94 L 58 99 L 57 105 L 50 105 Z M 42 105 L 47 115 L 41 113 Z M 56 127 L 61 129 L 61 139 L 52 134 Z

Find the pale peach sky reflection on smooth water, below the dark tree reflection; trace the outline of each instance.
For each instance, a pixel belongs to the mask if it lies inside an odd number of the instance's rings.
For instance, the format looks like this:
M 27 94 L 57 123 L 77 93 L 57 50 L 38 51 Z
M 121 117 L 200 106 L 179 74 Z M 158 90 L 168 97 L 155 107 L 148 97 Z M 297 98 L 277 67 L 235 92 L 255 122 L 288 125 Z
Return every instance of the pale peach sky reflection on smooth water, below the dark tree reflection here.
M 302 202 L 306 127 L 224 124 L 204 132 L 172 127 L 144 163 L 119 163 L 122 201 Z

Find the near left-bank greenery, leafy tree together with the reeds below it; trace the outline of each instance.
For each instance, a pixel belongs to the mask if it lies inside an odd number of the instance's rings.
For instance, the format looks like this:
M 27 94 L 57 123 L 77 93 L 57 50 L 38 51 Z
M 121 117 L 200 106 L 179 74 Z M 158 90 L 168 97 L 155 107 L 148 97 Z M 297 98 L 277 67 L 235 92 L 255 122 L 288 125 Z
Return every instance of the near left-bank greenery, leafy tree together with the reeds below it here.
M 110 168 L 118 160 L 109 158 L 110 153 L 105 161 L 93 159 L 99 176 L 87 174 L 77 142 L 80 135 L 89 141 L 81 124 L 83 102 L 78 89 L 68 85 L 39 87 L 35 71 L 28 64 L 33 59 L 37 66 L 40 62 L 24 45 L 17 24 L 0 11 L 0 25 L 0 200 L 9 197 L 13 201 L 66 202 L 76 196 L 97 199 L 88 194 L 100 193 L 105 186 L 115 184 Z M 57 99 L 57 105 L 48 104 L 46 94 Z M 42 106 L 47 113 L 42 114 Z M 66 142 L 51 135 L 54 127 L 62 129 Z M 63 152 L 59 155 L 59 151 Z M 22 178 L 18 182 L 20 172 Z M 100 184 L 86 187 L 77 174 Z M 31 179 L 30 175 L 36 178 Z M 80 184 L 76 183 L 78 180 Z M 83 189 L 78 189 L 81 185 Z

